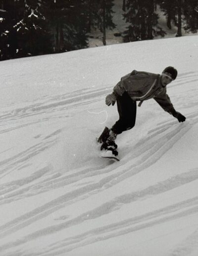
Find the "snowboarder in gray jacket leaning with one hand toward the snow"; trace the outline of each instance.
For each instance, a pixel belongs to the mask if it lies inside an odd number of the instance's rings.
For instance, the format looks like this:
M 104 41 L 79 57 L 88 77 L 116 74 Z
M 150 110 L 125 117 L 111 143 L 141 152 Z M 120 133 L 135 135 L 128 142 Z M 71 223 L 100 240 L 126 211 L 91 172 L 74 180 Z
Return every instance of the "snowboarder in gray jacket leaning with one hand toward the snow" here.
M 98 142 L 102 143 L 100 150 L 111 150 L 112 154 L 118 155 L 115 139 L 118 134 L 135 126 L 136 122 L 136 101 L 154 99 L 164 111 L 184 122 L 186 117 L 177 112 L 166 93 L 166 85 L 175 80 L 177 70 L 168 66 L 162 74 L 154 74 L 144 71 L 133 70 L 123 76 L 113 88 L 113 92 L 106 96 L 105 103 L 112 106 L 117 102 L 119 120 L 112 128 L 105 127 Z

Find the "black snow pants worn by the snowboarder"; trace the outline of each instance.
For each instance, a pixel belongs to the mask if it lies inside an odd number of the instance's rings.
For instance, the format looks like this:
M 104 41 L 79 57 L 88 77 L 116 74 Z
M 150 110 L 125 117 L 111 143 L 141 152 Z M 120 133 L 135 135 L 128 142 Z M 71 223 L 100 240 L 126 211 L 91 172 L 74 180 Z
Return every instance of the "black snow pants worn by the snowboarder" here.
M 133 101 L 127 92 L 117 98 L 117 109 L 119 120 L 111 128 L 115 133 L 120 134 L 125 130 L 129 130 L 136 123 L 136 101 Z

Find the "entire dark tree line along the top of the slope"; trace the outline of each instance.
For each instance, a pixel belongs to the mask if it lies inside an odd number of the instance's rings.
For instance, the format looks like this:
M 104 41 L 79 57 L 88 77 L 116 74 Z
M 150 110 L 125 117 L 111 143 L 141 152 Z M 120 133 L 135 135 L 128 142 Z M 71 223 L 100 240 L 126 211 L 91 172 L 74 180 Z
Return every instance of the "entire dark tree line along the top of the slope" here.
M 176 36 L 198 31 L 198 0 L 120 0 L 130 25 L 124 42 L 164 36 L 157 8 Z M 0 0 L 0 60 L 60 53 L 88 47 L 97 28 L 106 44 L 106 28 L 114 28 L 113 0 Z

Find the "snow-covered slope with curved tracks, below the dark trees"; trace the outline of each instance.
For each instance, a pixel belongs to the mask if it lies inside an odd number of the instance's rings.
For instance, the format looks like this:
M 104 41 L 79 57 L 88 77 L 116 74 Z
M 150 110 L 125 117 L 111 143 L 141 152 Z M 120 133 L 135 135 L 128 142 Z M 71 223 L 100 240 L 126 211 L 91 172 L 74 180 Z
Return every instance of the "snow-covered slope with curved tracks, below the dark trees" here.
M 198 36 L 1 62 L 0 255 L 197 256 L 197 63 Z M 99 158 L 95 137 L 118 118 L 106 94 L 167 65 L 186 122 L 144 102 L 121 161 Z

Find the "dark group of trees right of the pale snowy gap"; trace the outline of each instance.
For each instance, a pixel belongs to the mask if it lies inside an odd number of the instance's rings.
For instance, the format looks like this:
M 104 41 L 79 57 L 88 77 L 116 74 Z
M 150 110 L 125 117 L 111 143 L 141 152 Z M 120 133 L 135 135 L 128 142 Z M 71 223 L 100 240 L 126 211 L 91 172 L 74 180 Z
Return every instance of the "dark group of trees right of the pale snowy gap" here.
M 124 18 L 130 23 L 125 31 L 125 42 L 165 35 L 158 25 L 157 5 L 166 16 L 167 27 L 177 26 L 176 36 L 182 36 L 182 28 L 187 32 L 198 31 L 198 0 L 123 0 Z

